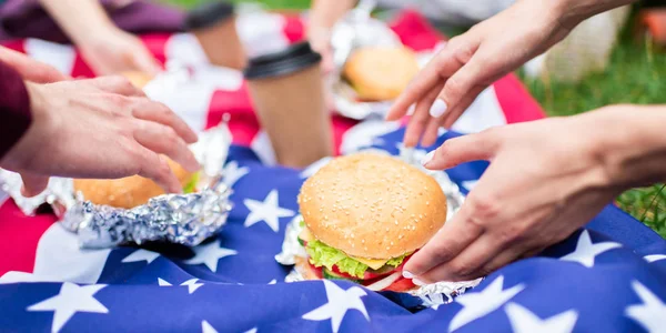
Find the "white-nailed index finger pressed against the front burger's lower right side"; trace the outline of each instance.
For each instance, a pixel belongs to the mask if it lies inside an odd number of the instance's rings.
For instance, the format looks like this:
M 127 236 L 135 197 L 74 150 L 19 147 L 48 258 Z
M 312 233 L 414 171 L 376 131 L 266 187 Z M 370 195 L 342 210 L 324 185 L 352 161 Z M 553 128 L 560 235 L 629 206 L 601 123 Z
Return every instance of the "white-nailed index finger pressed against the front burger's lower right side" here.
M 471 213 L 471 209 L 463 205 L 425 246 L 414 253 L 405 264 L 405 278 L 422 275 L 448 262 L 477 240 L 484 229 L 472 219 Z

